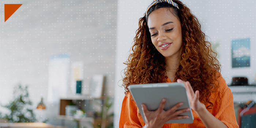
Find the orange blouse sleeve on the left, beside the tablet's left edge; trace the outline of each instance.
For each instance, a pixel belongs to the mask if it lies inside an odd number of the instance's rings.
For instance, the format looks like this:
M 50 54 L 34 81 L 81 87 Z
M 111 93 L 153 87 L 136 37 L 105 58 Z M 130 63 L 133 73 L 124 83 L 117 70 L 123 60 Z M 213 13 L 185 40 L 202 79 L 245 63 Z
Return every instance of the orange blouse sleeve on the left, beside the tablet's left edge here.
M 142 128 L 137 113 L 135 101 L 131 100 L 130 94 L 127 94 L 122 103 L 119 128 Z

